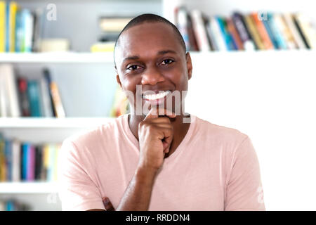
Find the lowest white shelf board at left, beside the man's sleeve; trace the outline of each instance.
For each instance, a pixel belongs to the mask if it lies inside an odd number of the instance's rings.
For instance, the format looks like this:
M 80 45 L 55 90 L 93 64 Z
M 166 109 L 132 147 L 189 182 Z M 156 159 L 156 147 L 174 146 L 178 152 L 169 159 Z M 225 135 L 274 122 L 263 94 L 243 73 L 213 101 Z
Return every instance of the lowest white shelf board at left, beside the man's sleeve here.
M 0 194 L 4 193 L 57 193 L 57 182 L 0 182 Z

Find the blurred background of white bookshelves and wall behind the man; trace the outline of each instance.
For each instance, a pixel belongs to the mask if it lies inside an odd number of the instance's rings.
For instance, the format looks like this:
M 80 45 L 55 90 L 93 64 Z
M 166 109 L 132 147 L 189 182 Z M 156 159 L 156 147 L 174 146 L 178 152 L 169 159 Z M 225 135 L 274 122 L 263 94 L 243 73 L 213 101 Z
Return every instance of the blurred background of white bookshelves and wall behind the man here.
M 266 210 L 316 210 L 316 4 L 308 0 L 0 1 L 0 210 L 61 210 L 60 144 L 128 113 L 113 48 L 142 13 L 192 56 L 187 113 L 247 134 Z

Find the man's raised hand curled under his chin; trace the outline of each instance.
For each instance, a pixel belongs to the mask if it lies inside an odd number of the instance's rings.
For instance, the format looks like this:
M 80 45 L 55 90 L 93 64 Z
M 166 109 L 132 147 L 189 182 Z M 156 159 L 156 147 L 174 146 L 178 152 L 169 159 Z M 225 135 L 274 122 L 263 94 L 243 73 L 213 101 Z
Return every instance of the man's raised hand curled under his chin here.
M 150 109 L 145 119 L 138 125 L 140 158 L 138 167 L 157 171 L 162 166 L 165 153 L 169 153 L 173 140 L 173 126 L 169 117 L 176 115 L 169 110 Z M 166 115 L 159 117 L 158 115 Z

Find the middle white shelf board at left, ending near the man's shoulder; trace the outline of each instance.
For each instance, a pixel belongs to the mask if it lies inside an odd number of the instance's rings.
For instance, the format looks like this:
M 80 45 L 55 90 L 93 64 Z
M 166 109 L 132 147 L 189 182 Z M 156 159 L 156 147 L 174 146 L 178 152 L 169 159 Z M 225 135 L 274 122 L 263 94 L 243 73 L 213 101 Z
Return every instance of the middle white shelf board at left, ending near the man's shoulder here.
M 0 117 L 1 128 L 84 128 L 97 127 L 114 120 L 114 117 L 91 117 L 91 118 L 32 118 L 32 117 Z

